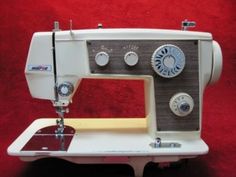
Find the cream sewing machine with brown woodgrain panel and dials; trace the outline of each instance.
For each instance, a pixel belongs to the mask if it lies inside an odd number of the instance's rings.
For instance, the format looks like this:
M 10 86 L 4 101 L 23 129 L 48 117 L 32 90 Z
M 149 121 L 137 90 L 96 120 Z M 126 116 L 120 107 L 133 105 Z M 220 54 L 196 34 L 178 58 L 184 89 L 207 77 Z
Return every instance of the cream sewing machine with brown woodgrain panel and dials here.
M 8 148 L 24 161 L 58 157 L 81 164 L 130 164 L 206 154 L 203 92 L 221 74 L 210 33 L 98 29 L 34 33 L 25 66 L 32 97 L 51 100 L 59 118 L 35 120 Z M 82 79 L 142 80 L 143 118 L 64 118 Z M 94 100 L 95 101 L 95 100 Z

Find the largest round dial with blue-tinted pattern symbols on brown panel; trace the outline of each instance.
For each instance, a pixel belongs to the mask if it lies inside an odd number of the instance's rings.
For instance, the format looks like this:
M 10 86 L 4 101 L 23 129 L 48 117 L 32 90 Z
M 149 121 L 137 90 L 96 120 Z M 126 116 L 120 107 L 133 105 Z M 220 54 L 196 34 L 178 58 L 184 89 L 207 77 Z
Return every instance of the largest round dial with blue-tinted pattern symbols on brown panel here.
M 162 45 L 152 55 L 154 71 L 164 78 L 172 78 L 179 75 L 183 71 L 184 66 L 184 52 L 175 45 Z

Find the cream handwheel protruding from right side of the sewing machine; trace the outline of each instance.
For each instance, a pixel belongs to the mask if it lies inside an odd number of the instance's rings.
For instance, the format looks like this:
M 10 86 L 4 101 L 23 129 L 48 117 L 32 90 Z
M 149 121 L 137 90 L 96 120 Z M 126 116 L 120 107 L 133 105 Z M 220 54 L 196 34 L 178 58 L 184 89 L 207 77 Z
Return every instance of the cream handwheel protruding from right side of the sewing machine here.
M 212 71 L 210 83 L 214 84 L 220 78 L 222 72 L 222 52 L 220 45 L 216 42 L 212 42 L 213 45 L 213 58 L 212 58 Z

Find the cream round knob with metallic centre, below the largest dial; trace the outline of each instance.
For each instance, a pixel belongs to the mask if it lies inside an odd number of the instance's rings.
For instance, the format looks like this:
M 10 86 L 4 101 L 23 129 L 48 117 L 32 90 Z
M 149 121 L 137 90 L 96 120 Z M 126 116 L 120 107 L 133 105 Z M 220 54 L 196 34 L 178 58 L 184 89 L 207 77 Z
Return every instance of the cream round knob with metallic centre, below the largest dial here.
M 169 106 L 175 115 L 184 117 L 192 112 L 194 102 L 189 94 L 177 93 L 170 99 Z

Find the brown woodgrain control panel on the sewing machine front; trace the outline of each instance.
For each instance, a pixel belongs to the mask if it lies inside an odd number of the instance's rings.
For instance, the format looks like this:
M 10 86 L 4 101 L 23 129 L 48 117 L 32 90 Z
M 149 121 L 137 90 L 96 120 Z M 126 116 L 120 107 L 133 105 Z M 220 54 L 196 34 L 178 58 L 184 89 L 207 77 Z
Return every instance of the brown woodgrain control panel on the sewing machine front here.
M 185 55 L 185 67 L 176 77 L 163 78 L 152 68 L 154 51 L 162 45 L 171 44 L 180 48 Z M 199 72 L 197 40 L 91 40 L 87 41 L 91 73 L 151 75 L 154 78 L 156 120 L 159 131 L 199 130 Z M 109 56 L 105 66 L 99 66 L 95 57 L 99 52 Z M 128 52 L 138 56 L 138 63 L 129 66 L 124 61 Z M 185 116 L 176 116 L 169 107 L 173 95 L 189 94 L 194 100 L 193 111 Z

